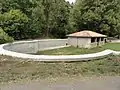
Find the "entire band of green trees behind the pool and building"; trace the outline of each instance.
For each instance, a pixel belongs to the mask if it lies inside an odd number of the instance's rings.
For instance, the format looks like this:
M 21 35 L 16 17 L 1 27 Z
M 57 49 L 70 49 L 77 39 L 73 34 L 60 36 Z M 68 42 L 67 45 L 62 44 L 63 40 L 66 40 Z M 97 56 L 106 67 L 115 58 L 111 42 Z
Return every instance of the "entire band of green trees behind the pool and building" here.
M 89 29 L 120 37 L 119 0 L 0 0 L 0 27 L 14 39 L 65 38 Z

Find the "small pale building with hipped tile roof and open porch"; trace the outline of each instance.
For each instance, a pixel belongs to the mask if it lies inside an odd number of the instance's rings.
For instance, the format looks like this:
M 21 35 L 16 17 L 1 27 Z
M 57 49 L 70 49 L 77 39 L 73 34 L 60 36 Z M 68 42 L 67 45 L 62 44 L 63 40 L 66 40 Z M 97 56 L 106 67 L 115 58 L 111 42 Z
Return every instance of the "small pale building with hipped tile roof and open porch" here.
M 68 44 L 79 48 L 93 48 L 104 45 L 107 41 L 107 36 L 93 31 L 84 30 L 69 34 Z

